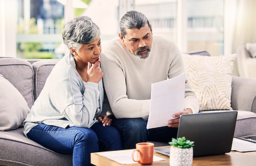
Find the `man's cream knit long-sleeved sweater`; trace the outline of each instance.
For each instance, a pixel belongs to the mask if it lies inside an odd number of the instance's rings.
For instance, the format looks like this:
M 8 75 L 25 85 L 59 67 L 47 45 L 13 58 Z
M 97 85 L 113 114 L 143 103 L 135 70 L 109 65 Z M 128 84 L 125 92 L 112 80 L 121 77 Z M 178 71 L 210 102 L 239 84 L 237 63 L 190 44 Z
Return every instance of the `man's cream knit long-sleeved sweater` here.
M 118 38 L 102 48 L 102 71 L 115 117 L 147 120 L 151 84 L 184 73 L 184 64 L 177 46 L 163 37 L 153 37 L 152 50 L 146 59 L 131 54 Z M 198 99 L 190 82 L 185 86 L 184 108 L 198 113 Z

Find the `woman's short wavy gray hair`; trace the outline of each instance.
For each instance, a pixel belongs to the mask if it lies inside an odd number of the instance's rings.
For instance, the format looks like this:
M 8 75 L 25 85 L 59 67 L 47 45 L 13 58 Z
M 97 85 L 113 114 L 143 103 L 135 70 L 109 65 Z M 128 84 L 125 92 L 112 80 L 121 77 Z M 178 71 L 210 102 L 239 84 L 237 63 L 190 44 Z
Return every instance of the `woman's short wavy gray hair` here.
M 81 44 L 90 44 L 99 37 L 99 27 L 90 17 L 75 17 L 65 23 L 62 37 L 68 48 L 72 47 L 78 51 Z

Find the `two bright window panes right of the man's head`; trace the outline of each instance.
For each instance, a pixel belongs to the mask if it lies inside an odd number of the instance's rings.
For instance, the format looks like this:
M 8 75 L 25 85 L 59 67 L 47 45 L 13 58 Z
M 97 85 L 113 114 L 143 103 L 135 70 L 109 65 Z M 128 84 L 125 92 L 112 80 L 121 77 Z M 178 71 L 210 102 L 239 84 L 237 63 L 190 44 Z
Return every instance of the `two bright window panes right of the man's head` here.
M 154 35 L 168 37 L 178 46 L 178 40 L 181 40 L 179 49 L 182 52 L 224 53 L 224 0 L 135 0 L 135 10 L 150 19 Z M 182 20 L 178 20 L 178 12 L 185 15 L 179 19 L 186 19 L 186 24 L 179 28 L 178 21 Z

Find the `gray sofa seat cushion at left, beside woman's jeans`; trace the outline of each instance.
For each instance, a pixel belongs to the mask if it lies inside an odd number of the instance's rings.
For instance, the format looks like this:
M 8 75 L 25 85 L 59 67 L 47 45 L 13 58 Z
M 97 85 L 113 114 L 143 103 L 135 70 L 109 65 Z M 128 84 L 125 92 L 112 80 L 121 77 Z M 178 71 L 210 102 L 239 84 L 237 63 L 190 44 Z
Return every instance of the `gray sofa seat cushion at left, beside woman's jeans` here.
M 26 138 L 23 131 L 23 127 L 0 131 L 0 165 L 72 165 L 72 156 L 42 147 Z

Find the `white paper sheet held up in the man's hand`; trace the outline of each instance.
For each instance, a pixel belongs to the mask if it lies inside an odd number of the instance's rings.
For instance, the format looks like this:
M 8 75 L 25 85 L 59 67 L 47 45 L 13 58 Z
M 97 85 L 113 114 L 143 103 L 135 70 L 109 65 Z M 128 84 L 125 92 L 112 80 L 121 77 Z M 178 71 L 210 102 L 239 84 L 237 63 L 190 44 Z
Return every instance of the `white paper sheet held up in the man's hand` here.
M 147 129 L 167 126 L 173 114 L 183 111 L 185 95 L 185 73 L 177 77 L 152 84 L 150 115 Z

